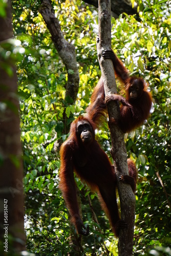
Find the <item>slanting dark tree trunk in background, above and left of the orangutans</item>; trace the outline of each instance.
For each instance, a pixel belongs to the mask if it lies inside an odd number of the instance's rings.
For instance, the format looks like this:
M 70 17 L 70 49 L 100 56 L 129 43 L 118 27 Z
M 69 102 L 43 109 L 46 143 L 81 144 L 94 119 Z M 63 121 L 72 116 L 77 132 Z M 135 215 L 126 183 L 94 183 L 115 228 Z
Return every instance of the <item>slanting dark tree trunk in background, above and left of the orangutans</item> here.
M 58 19 L 55 17 L 54 10 L 49 0 L 42 1 L 39 11 L 51 33 L 54 46 L 65 64 L 67 72 L 69 70 L 74 71 L 73 74 L 68 72 L 65 99 L 67 100 L 67 98 L 70 97 L 73 99 L 73 102 L 75 102 L 79 88 L 79 73 L 77 68 L 75 47 L 64 38 Z

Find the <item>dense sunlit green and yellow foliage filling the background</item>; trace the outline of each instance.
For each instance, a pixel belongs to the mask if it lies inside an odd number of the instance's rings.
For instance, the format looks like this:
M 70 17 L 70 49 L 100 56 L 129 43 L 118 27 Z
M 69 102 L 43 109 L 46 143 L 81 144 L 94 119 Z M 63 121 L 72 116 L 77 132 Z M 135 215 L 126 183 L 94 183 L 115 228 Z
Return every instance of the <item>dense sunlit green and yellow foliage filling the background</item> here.
M 89 104 L 100 77 L 97 9 L 81 1 L 52 1 L 62 32 L 76 49 L 80 83 L 77 101 L 71 104 L 63 100 L 67 72 L 38 12 L 40 1 L 14 0 L 12 4 L 17 39 L 12 54 L 18 60 L 27 250 L 38 255 L 77 255 L 71 245 L 75 230 L 70 226 L 58 189 L 59 147 L 68 136 L 71 121 Z M 167 255 L 171 254 L 171 3 L 142 0 L 139 6 L 141 23 L 129 16 L 112 18 L 112 47 L 132 74 L 145 78 L 154 102 L 148 121 L 135 132 L 125 134 L 127 154 L 135 160 L 139 171 L 134 255 L 149 251 L 151 255 Z M 122 91 L 118 83 L 118 92 Z M 64 110 L 67 123 L 63 122 Z M 97 131 L 96 137 L 110 156 L 107 124 Z M 83 238 L 83 252 L 79 255 L 107 255 L 107 250 L 109 255 L 117 255 L 117 240 L 96 195 L 77 178 L 76 182 L 83 221 L 89 223 L 92 231 Z

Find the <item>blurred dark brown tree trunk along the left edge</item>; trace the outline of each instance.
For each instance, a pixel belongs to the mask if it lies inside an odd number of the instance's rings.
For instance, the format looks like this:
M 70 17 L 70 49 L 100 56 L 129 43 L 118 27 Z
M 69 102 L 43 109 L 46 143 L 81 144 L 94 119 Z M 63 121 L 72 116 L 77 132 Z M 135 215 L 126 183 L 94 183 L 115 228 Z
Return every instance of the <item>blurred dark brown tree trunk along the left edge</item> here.
M 11 2 L 0 17 L 0 44 L 12 38 Z M 3 251 L 25 250 L 22 145 L 20 142 L 17 76 L 10 51 L 0 52 L 0 236 Z M 9 247 L 12 235 L 12 248 Z

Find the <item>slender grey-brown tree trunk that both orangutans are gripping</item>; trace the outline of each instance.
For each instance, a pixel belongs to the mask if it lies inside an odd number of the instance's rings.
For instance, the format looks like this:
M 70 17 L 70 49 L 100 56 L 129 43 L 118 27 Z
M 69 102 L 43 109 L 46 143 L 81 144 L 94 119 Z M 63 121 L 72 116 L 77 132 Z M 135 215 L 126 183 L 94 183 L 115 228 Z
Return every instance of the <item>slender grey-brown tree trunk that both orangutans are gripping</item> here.
M 111 49 L 111 6 L 110 0 L 99 0 L 99 41 L 97 43 L 97 53 L 101 73 L 103 76 L 105 95 L 116 93 L 115 75 L 111 60 L 104 60 L 102 51 Z M 119 108 L 116 102 L 108 104 L 109 118 L 115 119 L 119 116 Z M 130 185 L 119 181 L 120 175 L 128 175 L 127 154 L 124 143 L 124 134 L 117 125 L 110 125 L 112 150 L 117 184 L 121 206 L 121 219 L 127 223 L 127 228 L 122 229 L 119 234 L 118 252 L 119 255 L 130 256 L 133 254 L 134 221 L 135 221 L 135 195 Z

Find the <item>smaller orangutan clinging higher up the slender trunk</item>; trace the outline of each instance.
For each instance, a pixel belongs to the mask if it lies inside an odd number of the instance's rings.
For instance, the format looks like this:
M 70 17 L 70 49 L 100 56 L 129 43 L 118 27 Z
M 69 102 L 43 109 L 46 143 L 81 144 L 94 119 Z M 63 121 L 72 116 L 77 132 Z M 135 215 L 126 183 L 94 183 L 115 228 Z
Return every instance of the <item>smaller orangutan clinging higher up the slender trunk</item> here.
M 114 122 L 124 133 L 131 132 L 148 118 L 152 107 L 152 95 L 147 91 L 147 86 L 142 78 L 129 76 L 129 71 L 123 66 L 113 50 L 104 51 L 102 56 L 106 59 L 112 59 L 115 74 L 125 85 L 126 98 L 118 94 L 111 94 L 105 98 L 101 76 L 92 94 L 87 114 L 98 125 L 101 117 L 106 114 L 106 103 L 111 100 L 118 100 L 122 103 L 120 117 L 118 120 L 110 118 L 109 124 Z

